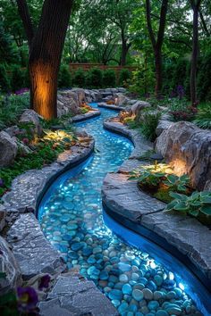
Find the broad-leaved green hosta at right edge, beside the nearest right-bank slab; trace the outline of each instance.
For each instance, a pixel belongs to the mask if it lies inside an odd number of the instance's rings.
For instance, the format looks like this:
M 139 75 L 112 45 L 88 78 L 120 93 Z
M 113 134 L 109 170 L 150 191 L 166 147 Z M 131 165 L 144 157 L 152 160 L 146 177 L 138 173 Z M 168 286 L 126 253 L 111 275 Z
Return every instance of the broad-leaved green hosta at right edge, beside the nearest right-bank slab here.
M 200 213 L 211 216 L 210 192 L 193 192 L 190 196 L 171 192 L 170 195 L 173 197 L 173 201 L 166 206 L 166 210 L 185 212 L 195 217 Z

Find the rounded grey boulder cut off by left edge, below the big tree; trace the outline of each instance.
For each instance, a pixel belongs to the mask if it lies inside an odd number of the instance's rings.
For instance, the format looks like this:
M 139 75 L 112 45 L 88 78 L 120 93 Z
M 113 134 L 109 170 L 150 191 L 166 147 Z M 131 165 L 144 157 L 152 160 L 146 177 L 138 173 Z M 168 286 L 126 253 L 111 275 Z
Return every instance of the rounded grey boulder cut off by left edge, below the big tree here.
M 18 146 L 15 140 L 4 131 L 0 132 L 0 167 L 6 167 L 13 163 L 18 154 Z

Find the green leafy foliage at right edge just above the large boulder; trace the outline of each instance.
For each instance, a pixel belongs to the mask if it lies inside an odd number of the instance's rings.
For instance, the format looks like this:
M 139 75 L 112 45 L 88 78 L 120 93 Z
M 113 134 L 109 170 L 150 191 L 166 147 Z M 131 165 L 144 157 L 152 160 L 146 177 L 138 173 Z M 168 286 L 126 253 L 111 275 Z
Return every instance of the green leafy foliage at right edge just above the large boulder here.
M 211 104 L 200 105 L 193 122 L 201 129 L 211 129 Z

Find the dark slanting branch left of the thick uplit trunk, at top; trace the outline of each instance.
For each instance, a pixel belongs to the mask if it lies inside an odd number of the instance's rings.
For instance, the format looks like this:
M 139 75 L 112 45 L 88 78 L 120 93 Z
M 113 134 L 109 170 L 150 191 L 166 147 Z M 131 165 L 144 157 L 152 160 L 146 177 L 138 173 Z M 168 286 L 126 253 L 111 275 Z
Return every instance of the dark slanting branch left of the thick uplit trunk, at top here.
M 28 39 L 29 46 L 31 45 L 32 39 L 34 37 L 34 30 L 32 26 L 32 21 L 30 19 L 30 12 L 28 5 L 25 0 L 16 0 L 18 5 L 18 11 L 21 16 L 21 21 L 23 28 L 25 29 L 26 36 Z

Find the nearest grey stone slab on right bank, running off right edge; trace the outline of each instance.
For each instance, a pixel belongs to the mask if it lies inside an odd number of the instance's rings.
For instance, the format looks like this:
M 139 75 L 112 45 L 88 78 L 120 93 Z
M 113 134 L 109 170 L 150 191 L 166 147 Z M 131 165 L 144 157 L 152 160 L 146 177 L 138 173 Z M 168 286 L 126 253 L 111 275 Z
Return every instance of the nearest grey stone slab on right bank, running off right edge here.
M 164 237 L 166 242 L 187 254 L 198 269 L 211 279 L 211 231 L 198 220 L 174 212 L 144 215 L 141 225 Z

